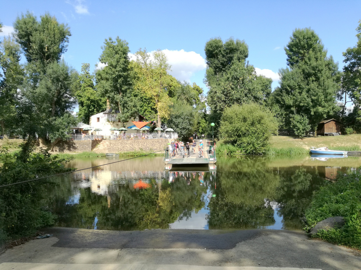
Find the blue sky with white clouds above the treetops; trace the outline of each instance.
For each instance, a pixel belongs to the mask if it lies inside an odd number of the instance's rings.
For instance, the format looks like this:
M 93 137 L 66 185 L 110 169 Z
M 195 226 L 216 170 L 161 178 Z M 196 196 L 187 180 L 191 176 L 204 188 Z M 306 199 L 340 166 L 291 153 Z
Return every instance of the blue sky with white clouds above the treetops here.
M 166 50 L 179 80 L 203 84 L 204 45 L 212 37 L 245 40 L 249 63 L 274 79 L 286 67 L 283 47 L 295 28 L 311 27 L 329 55 L 343 67 L 342 52 L 356 45 L 361 1 L 2 1 L 3 35 L 11 32 L 18 15 L 49 12 L 68 23 L 72 36 L 64 59 L 80 71 L 82 63 L 94 67 L 107 37 L 139 48 Z M 264 70 L 268 69 L 268 70 Z

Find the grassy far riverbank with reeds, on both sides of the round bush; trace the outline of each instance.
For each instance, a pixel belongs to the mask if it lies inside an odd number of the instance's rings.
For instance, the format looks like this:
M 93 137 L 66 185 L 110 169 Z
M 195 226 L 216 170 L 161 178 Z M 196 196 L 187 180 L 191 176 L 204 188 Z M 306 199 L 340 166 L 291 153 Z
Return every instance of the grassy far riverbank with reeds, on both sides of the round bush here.
M 270 156 L 308 154 L 310 147 L 328 147 L 332 150 L 360 151 L 361 134 L 346 136 L 317 136 L 297 139 L 292 136 L 272 136 L 270 148 L 264 153 Z M 219 140 L 216 147 L 217 154 L 240 155 L 242 149 Z

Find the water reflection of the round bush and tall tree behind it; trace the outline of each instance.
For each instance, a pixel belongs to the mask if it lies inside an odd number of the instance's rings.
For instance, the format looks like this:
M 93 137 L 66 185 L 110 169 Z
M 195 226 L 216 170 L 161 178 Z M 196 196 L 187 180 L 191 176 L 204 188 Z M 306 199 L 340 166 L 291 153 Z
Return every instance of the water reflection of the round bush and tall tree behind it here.
M 208 208 L 209 229 L 260 228 L 273 225 L 273 209 L 265 199 L 272 200 L 279 184 L 262 159 L 256 157 L 227 158 L 217 171 L 217 189 Z M 219 161 L 219 159 L 218 159 Z

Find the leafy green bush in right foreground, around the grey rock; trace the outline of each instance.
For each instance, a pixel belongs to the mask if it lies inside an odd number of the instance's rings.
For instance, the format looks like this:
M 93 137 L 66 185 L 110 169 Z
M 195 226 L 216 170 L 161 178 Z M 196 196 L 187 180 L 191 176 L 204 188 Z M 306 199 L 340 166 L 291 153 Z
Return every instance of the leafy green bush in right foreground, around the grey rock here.
M 306 211 L 306 230 L 328 217 L 343 216 L 342 228 L 321 230 L 314 237 L 331 243 L 361 248 L 361 167 L 347 175 L 339 174 L 336 182 L 327 182 L 313 196 Z

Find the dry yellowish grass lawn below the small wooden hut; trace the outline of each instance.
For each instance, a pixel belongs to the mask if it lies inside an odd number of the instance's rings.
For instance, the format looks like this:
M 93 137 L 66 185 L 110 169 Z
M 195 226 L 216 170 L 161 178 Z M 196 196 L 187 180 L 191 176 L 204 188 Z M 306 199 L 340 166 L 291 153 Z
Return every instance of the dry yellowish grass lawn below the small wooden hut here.
M 303 139 L 295 139 L 292 136 L 272 136 L 271 147 L 274 148 L 293 148 L 301 147 L 309 149 L 310 147 L 328 147 L 332 150 L 360 150 L 361 134 L 341 135 L 341 136 L 316 136 Z

